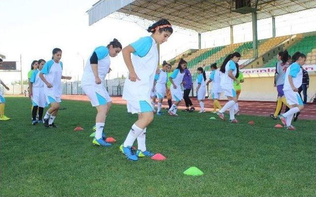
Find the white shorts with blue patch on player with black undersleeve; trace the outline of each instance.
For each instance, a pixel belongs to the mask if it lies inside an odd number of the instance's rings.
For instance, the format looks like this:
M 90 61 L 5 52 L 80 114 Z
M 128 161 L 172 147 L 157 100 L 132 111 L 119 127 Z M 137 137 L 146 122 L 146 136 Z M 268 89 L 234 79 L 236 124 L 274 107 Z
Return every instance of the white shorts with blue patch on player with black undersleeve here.
M 88 96 L 93 107 L 99 105 L 106 105 L 108 102 L 112 101 L 108 91 L 102 83 L 82 85 L 81 88 L 84 91 L 84 93 Z

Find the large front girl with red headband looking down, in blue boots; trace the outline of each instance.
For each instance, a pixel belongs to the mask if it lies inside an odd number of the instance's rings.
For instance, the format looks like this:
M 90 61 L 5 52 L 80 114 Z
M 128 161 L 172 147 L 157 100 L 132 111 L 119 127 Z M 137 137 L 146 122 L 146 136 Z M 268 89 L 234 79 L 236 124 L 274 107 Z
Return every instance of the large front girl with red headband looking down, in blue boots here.
M 138 120 L 132 125 L 120 146 L 120 151 L 127 159 L 133 161 L 137 161 L 138 157 L 154 155 L 146 149 L 146 128 L 154 119 L 150 95 L 158 68 L 157 44 L 167 41 L 173 32 L 171 24 L 166 19 L 160 19 L 147 31 L 152 35 L 140 38 L 122 49 L 124 62 L 129 71 L 122 98 L 127 101 L 127 111 L 137 113 Z M 136 138 L 138 150 L 135 155 L 132 146 Z

